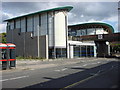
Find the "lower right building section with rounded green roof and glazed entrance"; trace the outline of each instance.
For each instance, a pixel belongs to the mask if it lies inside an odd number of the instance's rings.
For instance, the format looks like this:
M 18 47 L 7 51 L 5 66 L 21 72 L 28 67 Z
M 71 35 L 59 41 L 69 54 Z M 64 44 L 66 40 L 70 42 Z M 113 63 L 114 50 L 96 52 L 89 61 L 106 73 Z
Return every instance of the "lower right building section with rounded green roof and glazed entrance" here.
M 111 25 L 96 22 L 70 25 L 68 28 L 69 40 L 81 42 L 77 46 L 73 45 L 73 56 L 105 57 L 110 55 L 109 38 L 106 39 L 105 35 L 114 33 Z M 86 44 L 88 42 L 89 44 Z

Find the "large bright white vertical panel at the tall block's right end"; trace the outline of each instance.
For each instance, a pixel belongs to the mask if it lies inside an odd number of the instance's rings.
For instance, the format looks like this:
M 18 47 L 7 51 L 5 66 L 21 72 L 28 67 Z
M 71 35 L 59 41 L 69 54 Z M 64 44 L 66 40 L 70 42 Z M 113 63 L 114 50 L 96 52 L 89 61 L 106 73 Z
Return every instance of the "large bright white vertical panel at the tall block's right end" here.
M 66 26 L 63 12 L 55 12 L 55 46 L 66 47 Z

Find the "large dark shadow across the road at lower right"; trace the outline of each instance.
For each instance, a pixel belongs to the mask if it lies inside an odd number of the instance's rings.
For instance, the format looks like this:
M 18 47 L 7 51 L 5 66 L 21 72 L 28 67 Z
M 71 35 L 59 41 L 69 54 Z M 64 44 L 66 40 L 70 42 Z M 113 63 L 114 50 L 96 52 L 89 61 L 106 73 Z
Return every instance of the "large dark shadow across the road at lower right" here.
M 49 79 L 49 81 L 38 83 L 38 84 L 24 87 L 21 89 L 64 88 L 66 86 L 70 86 L 81 80 L 84 80 L 88 77 L 91 77 L 96 73 L 99 73 L 99 75 L 94 79 L 91 79 L 91 81 L 89 80 L 90 82 L 87 82 L 87 81 L 85 81 L 86 83 L 82 82 L 73 88 L 110 88 L 112 85 L 116 85 L 116 84 L 118 85 L 120 83 L 120 78 L 119 78 L 120 61 L 111 61 L 109 63 L 102 64 L 100 66 L 90 68 L 90 69 L 85 69 L 85 68 L 71 68 L 71 69 L 82 69 L 83 71 L 73 73 L 57 79 L 51 78 L 51 77 L 43 77 L 45 79 Z M 106 73 L 102 74 L 103 72 L 106 72 Z

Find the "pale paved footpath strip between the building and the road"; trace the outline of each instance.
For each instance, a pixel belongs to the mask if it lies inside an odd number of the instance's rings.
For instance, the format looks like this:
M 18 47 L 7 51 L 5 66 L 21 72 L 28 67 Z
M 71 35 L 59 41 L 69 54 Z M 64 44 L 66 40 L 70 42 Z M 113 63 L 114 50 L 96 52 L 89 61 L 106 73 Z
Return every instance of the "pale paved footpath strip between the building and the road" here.
M 104 60 L 109 60 L 104 58 Z M 48 59 L 48 60 L 16 60 L 16 68 L 8 69 L 8 70 L 0 70 L 0 72 L 11 72 L 11 71 L 19 71 L 19 70 L 29 70 L 29 69 L 40 69 L 40 68 L 49 68 L 56 67 L 60 65 L 69 65 L 75 64 L 78 62 L 89 62 L 95 60 L 103 60 L 103 58 L 76 58 L 76 59 Z

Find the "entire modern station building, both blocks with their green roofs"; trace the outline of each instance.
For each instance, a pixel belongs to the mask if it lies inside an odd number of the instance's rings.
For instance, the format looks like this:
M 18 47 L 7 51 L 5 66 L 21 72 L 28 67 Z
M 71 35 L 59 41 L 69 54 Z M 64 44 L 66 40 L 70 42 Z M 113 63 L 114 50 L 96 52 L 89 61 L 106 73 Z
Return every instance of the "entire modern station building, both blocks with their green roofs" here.
M 105 23 L 68 26 L 67 13 L 72 8 L 58 7 L 5 20 L 7 42 L 14 43 L 16 55 L 23 57 L 48 59 L 99 56 L 99 43 L 96 40 L 81 41 L 81 36 L 102 37 L 103 34 L 114 32 L 112 26 Z M 106 45 L 106 41 L 101 45 L 107 48 L 104 53 L 108 54 L 109 45 Z

